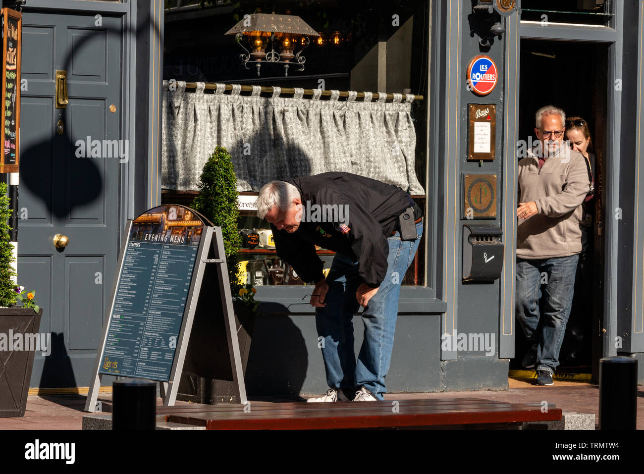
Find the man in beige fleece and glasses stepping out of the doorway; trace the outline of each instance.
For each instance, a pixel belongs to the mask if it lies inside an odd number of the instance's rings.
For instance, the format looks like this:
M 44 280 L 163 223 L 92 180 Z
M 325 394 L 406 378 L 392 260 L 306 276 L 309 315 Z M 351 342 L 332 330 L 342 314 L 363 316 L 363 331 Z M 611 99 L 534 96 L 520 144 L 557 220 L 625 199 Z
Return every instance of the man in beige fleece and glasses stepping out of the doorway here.
M 552 385 L 559 365 L 590 187 L 583 156 L 564 142 L 564 123 L 562 109 L 540 108 L 538 142 L 518 164 L 516 318 L 531 344 L 522 365 L 536 366 L 539 385 Z

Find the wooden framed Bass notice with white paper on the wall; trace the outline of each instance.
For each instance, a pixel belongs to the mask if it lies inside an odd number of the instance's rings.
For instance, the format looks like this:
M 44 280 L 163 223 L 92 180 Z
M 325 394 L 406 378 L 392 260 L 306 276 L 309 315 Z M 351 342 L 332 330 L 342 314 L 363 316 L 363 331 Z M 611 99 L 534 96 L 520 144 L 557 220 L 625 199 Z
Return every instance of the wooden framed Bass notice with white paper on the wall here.
M 468 160 L 494 160 L 497 147 L 497 106 L 469 105 Z

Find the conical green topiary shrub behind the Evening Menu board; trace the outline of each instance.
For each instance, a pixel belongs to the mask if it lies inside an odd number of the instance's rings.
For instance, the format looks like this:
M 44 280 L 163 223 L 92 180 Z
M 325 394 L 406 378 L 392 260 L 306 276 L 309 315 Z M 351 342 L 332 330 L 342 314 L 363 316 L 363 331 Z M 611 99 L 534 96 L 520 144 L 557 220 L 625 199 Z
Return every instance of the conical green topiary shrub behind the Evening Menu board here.
M 204 214 L 214 225 L 222 227 L 223 249 L 228 263 L 228 279 L 232 297 L 242 288 L 238 280 L 239 248 L 242 238 L 237 228 L 239 218 L 237 177 L 231 155 L 224 147 L 216 147 L 204 165 L 199 178 L 199 194 L 193 208 Z

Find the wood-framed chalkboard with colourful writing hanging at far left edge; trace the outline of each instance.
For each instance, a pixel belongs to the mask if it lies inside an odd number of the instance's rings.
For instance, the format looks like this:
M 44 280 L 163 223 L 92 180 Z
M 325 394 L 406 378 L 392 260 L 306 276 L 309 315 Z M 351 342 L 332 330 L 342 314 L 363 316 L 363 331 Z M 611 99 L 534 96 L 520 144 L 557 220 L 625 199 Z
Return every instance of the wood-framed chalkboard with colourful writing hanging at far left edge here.
M 4 153 L 0 158 L 0 173 L 17 173 L 20 143 L 20 58 L 22 48 L 22 15 L 10 8 L 2 10 L 3 83 L 0 143 Z

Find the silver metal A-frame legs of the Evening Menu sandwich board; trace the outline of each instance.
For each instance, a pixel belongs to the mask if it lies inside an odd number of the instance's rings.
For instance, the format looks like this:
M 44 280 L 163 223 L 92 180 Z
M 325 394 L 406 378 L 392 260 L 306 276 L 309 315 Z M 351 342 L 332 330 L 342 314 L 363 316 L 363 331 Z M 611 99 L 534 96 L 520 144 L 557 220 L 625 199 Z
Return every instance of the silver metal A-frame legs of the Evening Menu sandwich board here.
M 118 281 L 122 272 L 123 263 L 125 260 L 126 249 L 131 234 L 132 221 L 128 221 L 126 226 L 126 234 L 121 243 L 120 256 L 118 258 L 118 274 L 114 278 L 111 290 L 111 305 L 109 310 L 106 311 L 106 323 L 103 325 L 103 332 L 101 336 L 100 350 L 97 352 L 96 361 L 93 369 L 93 381 L 90 384 L 90 391 L 88 392 L 87 401 L 85 403 L 86 412 L 94 412 L 96 409 L 96 401 L 99 395 L 100 381 L 102 374 L 99 374 L 100 359 L 102 357 L 105 345 L 107 343 L 109 334 L 109 325 L 111 323 L 111 314 L 116 301 L 116 292 Z M 178 392 L 185 353 L 187 351 L 191 330 L 193 327 L 194 314 L 196 312 L 197 303 L 199 300 L 200 291 L 204 283 L 204 270 L 205 265 L 217 265 L 217 277 L 220 289 L 220 301 L 222 301 L 223 319 L 225 321 L 226 336 L 228 341 L 229 356 L 232 368 L 233 386 L 237 399 L 242 404 L 247 403 L 246 388 L 243 380 L 242 372 L 242 358 L 240 355 L 239 341 L 237 338 L 236 322 L 234 318 L 234 310 L 232 308 L 232 295 L 230 281 L 228 278 L 228 270 L 226 266 L 225 252 L 223 251 L 223 238 L 221 227 L 211 227 L 204 225 L 204 234 L 202 241 L 199 244 L 197 251 L 195 268 L 193 269 L 193 278 L 190 283 L 190 289 L 187 296 L 186 305 L 184 308 L 184 318 L 181 323 L 178 341 L 176 344 L 175 359 L 170 371 L 168 381 L 159 381 L 161 397 L 164 406 L 173 406 L 176 401 L 176 393 Z M 213 250 L 215 258 L 209 259 L 208 254 Z M 207 357 L 207 354 L 203 354 Z M 136 377 L 131 377 L 136 378 Z

